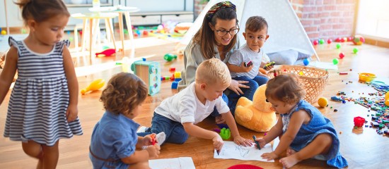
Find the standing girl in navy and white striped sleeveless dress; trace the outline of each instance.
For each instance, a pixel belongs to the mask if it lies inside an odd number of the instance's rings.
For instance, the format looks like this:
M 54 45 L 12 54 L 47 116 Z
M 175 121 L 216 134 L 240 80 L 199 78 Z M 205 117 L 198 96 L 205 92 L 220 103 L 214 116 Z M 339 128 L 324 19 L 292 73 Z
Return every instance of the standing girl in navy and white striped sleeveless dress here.
M 28 37 L 12 37 L 0 75 L 0 104 L 18 70 L 11 92 L 4 137 L 21 141 L 23 151 L 37 158 L 37 168 L 55 168 L 59 139 L 83 134 L 77 117 L 78 82 L 69 53 L 61 41 L 69 12 L 62 0 L 21 0 Z

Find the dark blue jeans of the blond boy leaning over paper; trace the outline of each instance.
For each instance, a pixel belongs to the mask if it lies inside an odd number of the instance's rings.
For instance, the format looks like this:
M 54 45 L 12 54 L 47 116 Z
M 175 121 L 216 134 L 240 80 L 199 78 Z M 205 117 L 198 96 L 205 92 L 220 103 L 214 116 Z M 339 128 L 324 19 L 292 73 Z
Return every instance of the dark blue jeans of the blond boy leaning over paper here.
M 147 134 L 165 132 L 165 142 L 183 144 L 187 141 L 189 136 L 184 130 L 184 126 L 174 120 L 170 120 L 163 115 L 159 115 L 154 112 L 153 119 L 151 120 L 151 127 L 146 132 L 137 133 L 139 136 L 144 137 Z M 163 144 L 163 143 L 161 143 Z

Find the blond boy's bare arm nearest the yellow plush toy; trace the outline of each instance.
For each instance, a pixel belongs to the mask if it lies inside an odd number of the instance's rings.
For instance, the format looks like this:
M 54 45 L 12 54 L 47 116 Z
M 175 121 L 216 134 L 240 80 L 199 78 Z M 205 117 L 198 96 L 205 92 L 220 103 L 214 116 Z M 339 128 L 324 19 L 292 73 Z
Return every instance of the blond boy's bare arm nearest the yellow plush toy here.
M 228 111 L 227 113 L 222 113 L 221 116 L 223 117 L 224 120 L 226 120 L 226 123 L 231 130 L 231 135 L 233 137 L 233 142 L 235 142 L 235 144 L 243 145 L 243 146 L 252 145 L 251 139 L 245 139 L 240 136 L 238 127 L 236 127 L 235 119 L 233 118 L 231 111 Z

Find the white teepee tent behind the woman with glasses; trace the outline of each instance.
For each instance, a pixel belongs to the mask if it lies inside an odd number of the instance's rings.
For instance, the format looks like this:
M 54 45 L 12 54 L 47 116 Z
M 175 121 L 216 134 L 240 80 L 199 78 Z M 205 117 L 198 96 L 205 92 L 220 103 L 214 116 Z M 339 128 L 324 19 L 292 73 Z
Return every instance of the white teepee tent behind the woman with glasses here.
M 199 30 L 205 14 L 214 4 L 223 0 L 211 0 L 205 6 L 202 13 L 194 21 L 194 24 L 182 38 L 180 44 L 189 44 L 190 39 Z M 240 32 L 238 38 L 240 42 L 245 42 L 242 32 L 245 31 L 245 21 L 252 15 L 260 15 L 267 20 L 269 25 L 269 39 L 263 46 L 266 53 L 274 53 L 294 49 L 303 54 L 315 55 L 313 45 L 310 42 L 306 31 L 288 0 L 229 0 L 236 5 Z

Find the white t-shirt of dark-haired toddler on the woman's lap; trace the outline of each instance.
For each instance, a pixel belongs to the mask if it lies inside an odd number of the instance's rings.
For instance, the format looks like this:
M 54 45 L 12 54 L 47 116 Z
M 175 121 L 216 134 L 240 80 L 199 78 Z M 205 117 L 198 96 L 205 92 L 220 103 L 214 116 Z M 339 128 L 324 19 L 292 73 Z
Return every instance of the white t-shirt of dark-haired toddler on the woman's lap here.
M 233 54 L 231 55 L 230 59 L 228 60 L 228 63 L 231 65 L 238 65 L 242 62 L 248 63 L 249 61 L 252 62 L 252 69 L 248 73 L 233 73 L 231 72 L 231 77 L 240 77 L 240 76 L 247 76 L 250 79 L 253 79 L 255 76 L 258 75 L 258 71 L 260 70 L 260 65 L 262 62 L 262 57 L 264 57 L 265 52 L 261 49 L 260 52 L 252 51 L 247 44 L 244 44 L 239 49 L 236 49 L 233 51 Z

